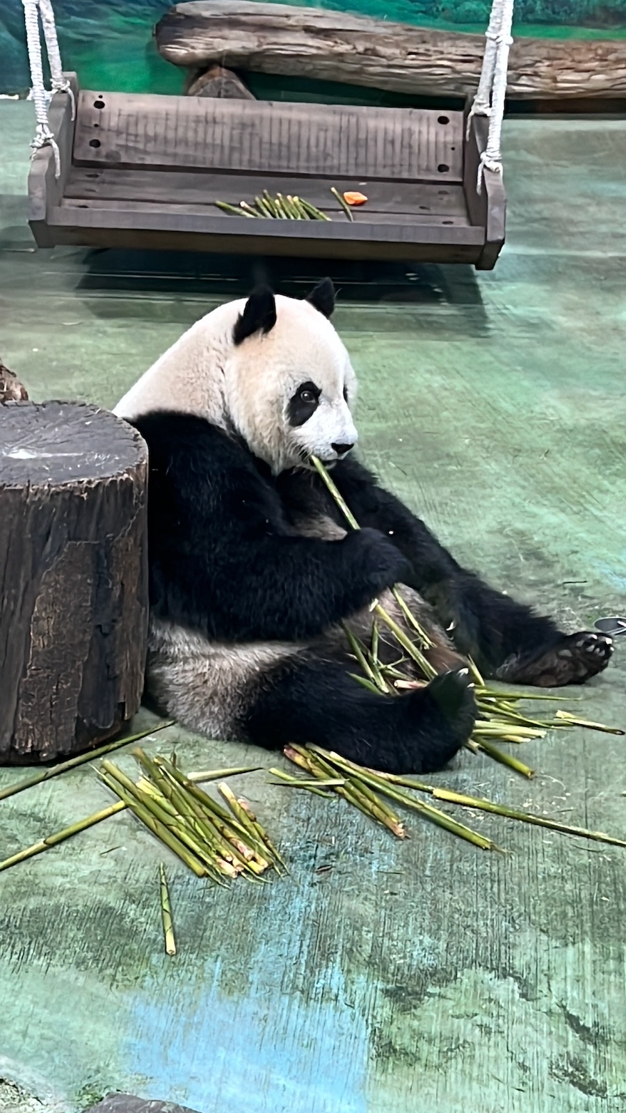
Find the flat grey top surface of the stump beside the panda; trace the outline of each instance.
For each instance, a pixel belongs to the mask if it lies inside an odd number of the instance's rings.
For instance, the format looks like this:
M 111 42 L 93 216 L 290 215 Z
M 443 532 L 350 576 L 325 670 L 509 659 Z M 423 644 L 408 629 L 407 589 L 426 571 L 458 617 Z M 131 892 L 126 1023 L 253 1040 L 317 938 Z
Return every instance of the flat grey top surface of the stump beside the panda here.
M 10 402 L 0 412 L 0 489 L 106 480 L 145 457 L 139 434 L 99 406 Z

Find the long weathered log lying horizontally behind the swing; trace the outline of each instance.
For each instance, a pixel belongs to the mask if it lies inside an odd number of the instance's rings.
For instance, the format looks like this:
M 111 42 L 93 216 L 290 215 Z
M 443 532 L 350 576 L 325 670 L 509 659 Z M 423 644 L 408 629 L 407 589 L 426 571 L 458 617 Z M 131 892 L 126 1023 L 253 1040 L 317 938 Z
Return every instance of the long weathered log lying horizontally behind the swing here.
M 485 50 L 479 35 L 251 0 L 175 4 L 155 35 L 162 56 L 176 66 L 218 60 L 236 70 L 413 95 L 472 93 Z M 517 38 L 508 95 L 625 96 L 626 40 Z

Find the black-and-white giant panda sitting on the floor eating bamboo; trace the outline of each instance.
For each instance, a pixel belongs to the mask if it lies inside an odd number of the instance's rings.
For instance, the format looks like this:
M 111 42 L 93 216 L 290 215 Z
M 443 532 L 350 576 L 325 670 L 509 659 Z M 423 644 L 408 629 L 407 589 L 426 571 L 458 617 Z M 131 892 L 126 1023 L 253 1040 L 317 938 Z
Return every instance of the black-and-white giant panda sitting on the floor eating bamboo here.
M 334 299 L 324 279 L 303 301 L 261 288 L 222 305 L 115 407 L 149 450 L 147 693 L 209 738 L 433 771 L 475 725 L 468 656 L 486 677 L 555 686 L 603 670 L 613 646 L 486 585 L 353 459 L 356 382 Z M 311 454 L 361 530 L 346 532 Z M 342 623 L 368 638 L 374 599 L 402 622 L 395 583 L 439 674 L 391 699 L 351 676 Z M 398 659 L 385 630 L 379 652 Z

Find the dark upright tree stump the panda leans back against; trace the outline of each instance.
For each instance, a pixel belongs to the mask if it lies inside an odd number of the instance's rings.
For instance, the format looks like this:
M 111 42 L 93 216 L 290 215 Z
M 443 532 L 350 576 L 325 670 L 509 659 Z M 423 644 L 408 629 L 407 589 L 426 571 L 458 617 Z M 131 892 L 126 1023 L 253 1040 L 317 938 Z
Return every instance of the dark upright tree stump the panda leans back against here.
M 47 761 L 139 708 L 147 450 L 105 410 L 0 411 L 0 761 Z

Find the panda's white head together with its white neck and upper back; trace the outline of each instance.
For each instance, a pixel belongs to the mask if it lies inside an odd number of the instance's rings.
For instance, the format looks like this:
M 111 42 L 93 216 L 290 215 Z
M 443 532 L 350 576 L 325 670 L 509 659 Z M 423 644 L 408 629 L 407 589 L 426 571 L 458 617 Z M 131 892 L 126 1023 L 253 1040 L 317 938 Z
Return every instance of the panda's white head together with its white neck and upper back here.
M 325 278 L 306 298 L 258 288 L 197 321 L 118 402 L 130 421 L 150 410 L 206 417 L 278 474 L 332 465 L 356 442 L 356 381 L 331 315 Z

